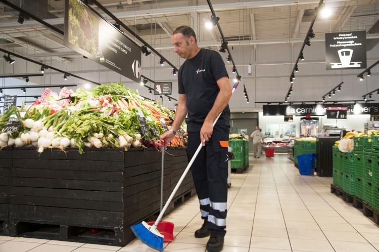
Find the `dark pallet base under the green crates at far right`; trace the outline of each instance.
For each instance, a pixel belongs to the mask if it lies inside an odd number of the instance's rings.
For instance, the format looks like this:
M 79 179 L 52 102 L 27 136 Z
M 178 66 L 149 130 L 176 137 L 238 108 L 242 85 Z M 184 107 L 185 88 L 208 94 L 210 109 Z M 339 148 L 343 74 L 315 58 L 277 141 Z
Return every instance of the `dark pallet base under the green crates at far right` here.
M 336 194 L 348 203 L 352 203 L 355 208 L 362 209 L 363 215 L 371 218 L 375 224 L 379 225 L 379 212 L 375 211 L 371 205 L 367 204 L 364 200 L 348 194 L 341 187 L 330 184 L 330 192 Z

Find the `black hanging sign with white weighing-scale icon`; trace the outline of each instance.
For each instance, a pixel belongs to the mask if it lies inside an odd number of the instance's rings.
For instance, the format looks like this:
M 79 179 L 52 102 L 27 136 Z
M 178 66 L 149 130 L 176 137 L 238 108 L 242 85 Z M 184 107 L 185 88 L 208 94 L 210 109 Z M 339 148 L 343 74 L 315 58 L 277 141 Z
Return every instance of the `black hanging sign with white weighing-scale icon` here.
M 366 31 L 325 33 L 326 70 L 366 68 Z

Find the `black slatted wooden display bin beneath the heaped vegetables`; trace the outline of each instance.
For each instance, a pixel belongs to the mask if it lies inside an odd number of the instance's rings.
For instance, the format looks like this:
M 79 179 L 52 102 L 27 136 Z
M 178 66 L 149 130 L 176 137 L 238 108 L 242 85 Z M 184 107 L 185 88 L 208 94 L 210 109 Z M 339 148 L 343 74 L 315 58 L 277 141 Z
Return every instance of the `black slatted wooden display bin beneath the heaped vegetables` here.
M 134 238 L 131 225 L 153 220 L 160 206 L 161 153 L 153 148 L 84 151 L 0 151 L 0 188 L 5 192 L 0 232 L 124 246 Z M 168 152 L 174 156 L 165 155 L 164 203 L 175 186 L 171 170 L 175 180 L 188 163 L 185 149 Z M 189 176 L 181 189 L 186 196 L 178 193 L 167 214 L 194 195 Z

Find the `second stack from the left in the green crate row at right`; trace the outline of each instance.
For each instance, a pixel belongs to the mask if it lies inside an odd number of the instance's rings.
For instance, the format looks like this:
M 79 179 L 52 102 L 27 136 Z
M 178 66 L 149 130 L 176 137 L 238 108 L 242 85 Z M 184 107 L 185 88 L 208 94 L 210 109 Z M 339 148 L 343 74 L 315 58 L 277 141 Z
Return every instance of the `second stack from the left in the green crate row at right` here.
M 345 192 L 354 195 L 354 152 L 342 153 L 342 188 Z

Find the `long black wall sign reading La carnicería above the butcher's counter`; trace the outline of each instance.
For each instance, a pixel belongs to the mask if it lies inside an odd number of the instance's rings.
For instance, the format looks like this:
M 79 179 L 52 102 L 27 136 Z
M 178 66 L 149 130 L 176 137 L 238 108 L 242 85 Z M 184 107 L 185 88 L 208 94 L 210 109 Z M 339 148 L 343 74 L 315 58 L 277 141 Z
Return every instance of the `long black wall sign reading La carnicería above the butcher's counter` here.
M 330 106 L 330 105 L 329 105 Z M 379 114 L 379 103 L 334 104 L 347 107 L 348 115 Z M 326 115 L 327 104 L 263 105 L 263 115 Z

